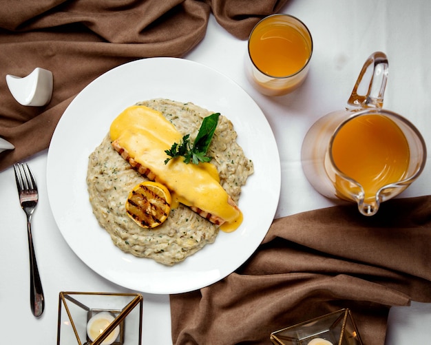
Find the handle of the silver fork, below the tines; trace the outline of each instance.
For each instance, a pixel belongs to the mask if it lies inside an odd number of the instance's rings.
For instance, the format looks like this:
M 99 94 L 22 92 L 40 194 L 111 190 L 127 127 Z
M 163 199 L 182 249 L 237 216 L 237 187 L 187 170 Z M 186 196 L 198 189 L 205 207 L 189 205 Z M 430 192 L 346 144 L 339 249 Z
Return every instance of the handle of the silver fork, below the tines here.
M 34 316 L 39 317 L 45 309 L 45 297 L 43 297 L 43 289 L 39 269 L 37 269 L 36 255 L 34 255 L 32 227 L 30 220 L 27 221 L 28 233 L 28 251 L 30 253 L 30 306 Z

